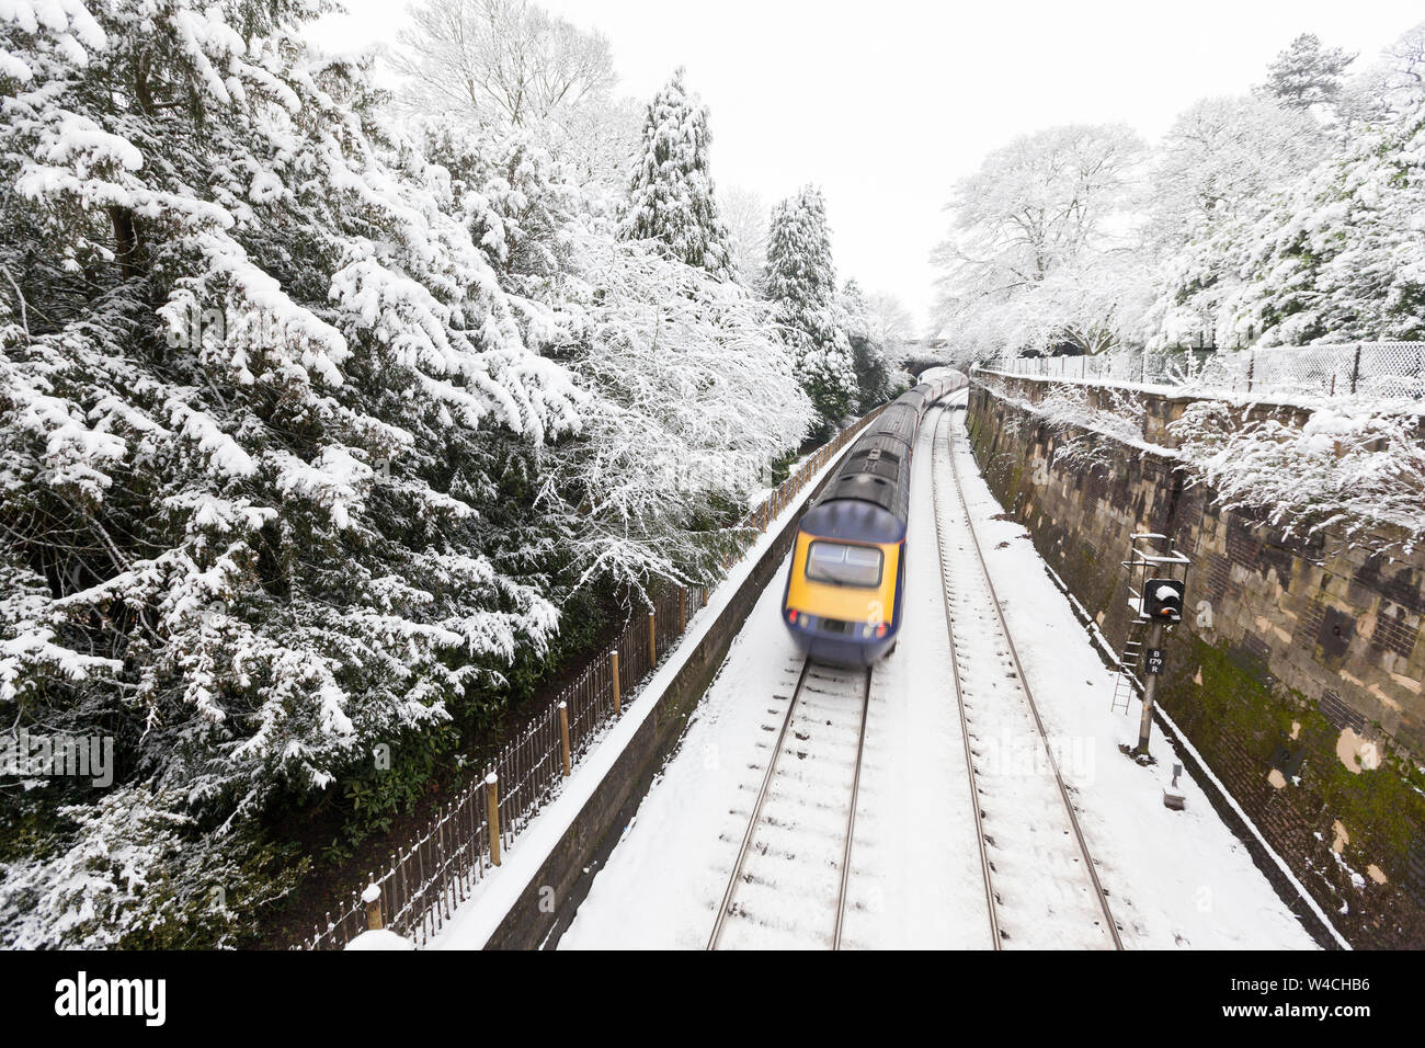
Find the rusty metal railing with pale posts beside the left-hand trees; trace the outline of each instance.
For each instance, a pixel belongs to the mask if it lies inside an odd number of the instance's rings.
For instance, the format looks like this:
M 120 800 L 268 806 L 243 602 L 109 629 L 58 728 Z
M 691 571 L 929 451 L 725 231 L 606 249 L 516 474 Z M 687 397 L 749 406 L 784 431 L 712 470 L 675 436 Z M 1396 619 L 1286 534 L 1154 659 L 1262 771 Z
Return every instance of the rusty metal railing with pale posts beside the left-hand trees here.
M 731 530 L 737 552 L 724 558 L 724 576 L 879 413 L 878 408 L 836 433 L 742 518 Z M 378 907 L 382 927 L 418 945 L 435 937 L 539 810 L 559 796 L 564 776 L 618 719 L 624 700 L 653 672 L 658 656 L 677 644 L 708 593 L 705 586 L 677 586 L 656 596 L 646 619 L 636 616 L 608 652 L 500 750 L 486 776 L 442 807 L 383 868 L 373 870 L 363 890 L 353 891 L 335 913 L 328 911 L 298 948 L 343 948 L 369 927 Z

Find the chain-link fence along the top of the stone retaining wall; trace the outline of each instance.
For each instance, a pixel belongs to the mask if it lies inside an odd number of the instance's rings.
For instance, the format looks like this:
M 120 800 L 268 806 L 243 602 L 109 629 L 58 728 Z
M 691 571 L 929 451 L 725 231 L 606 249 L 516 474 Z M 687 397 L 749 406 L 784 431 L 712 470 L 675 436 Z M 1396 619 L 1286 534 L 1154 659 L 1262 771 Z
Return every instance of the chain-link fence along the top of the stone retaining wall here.
M 1425 399 L 1425 342 L 1017 356 L 986 361 L 980 368 L 1003 375 L 1167 385 L 1183 392 Z

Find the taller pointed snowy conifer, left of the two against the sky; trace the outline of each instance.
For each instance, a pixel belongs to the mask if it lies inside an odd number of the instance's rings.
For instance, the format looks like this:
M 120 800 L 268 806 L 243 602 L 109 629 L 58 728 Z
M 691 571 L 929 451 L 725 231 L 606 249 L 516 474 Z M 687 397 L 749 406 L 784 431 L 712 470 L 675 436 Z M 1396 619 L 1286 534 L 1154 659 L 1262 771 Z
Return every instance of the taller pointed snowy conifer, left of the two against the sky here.
M 708 111 L 683 86 L 683 68 L 654 96 L 628 188 L 627 240 L 651 240 L 673 258 L 732 279 L 728 232 L 708 175 Z

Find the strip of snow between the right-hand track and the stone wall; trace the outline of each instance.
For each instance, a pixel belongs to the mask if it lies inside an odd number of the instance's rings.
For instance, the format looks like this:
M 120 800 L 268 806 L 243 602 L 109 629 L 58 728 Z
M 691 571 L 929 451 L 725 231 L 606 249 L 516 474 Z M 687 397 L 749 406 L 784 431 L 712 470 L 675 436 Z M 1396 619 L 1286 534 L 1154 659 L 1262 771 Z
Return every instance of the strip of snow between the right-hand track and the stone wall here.
M 1079 823 L 1129 950 L 1311 950 L 1310 933 L 1277 895 L 1190 773 L 1187 807 L 1163 806 L 1173 747 L 1154 733 L 1153 767 L 1119 751 L 1137 741 L 1137 704 L 1113 713 L 1113 673 L 1054 585 L 1029 532 L 1006 516 L 950 419 L 950 452 L 1000 607 L 1019 644 L 1045 727 L 1060 740 L 1060 766 Z M 1126 552 L 1126 550 L 1124 550 Z

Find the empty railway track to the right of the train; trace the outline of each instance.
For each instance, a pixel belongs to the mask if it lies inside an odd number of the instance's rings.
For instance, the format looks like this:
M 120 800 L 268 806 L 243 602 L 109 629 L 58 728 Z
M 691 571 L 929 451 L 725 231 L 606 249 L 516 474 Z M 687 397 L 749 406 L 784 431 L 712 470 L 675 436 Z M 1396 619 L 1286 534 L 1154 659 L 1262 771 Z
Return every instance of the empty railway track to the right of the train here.
M 942 409 L 936 421 L 931 476 L 990 942 L 1121 950 L 965 503 L 950 418 Z

